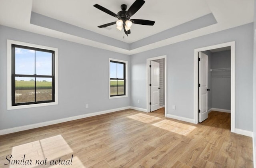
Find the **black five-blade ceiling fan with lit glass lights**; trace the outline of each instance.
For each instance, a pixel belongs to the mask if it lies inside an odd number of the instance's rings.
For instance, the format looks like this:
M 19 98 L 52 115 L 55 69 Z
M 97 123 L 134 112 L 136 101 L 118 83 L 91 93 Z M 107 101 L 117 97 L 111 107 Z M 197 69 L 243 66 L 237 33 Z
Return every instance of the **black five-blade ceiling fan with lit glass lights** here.
M 103 24 L 101 26 L 98 26 L 98 28 L 105 28 L 107 26 L 116 24 L 116 26 L 117 26 L 116 28 L 120 31 L 123 28 L 124 33 L 128 36 L 128 34 L 131 33 L 130 29 L 131 29 L 132 24 L 142 24 L 142 25 L 153 26 L 155 22 L 151 21 L 151 20 L 130 19 L 130 17 L 132 17 L 132 15 L 134 15 L 142 7 L 142 5 L 144 3 L 145 3 L 144 0 L 136 0 L 127 11 L 126 11 L 127 5 L 122 4 L 121 11 L 119 11 L 117 14 L 115 14 L 114 12 L 111 12 L 110 10 L 104 8 L 103 6 L 95 4 L 94 5 L 95 8 L 98 8 L 99 10 L 102 10 L 103 12 L 118 18 L 118 21 L 111 22 L 108 24 Z

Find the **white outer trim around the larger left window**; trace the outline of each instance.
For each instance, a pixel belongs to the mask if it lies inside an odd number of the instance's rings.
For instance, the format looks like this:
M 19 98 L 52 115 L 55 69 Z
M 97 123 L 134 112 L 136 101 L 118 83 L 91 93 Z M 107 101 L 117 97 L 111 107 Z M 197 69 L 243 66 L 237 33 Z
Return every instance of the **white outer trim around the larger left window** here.
M 54 51 L 55 102 L 12 106 L 12 44 Z M 7 40 L 7 110 L 42 107 L 49 105 L 58 105 L 58 48 L 36 45 L 32 43 L 18 42 L 14 40 Z

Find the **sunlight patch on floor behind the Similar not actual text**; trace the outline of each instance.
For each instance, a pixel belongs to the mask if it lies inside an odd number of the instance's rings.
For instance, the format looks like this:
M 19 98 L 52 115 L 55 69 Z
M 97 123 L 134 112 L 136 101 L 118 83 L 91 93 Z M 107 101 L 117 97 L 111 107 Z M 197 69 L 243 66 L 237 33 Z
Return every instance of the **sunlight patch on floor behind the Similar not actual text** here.
M 61 135 L 57 135 L 12 147 L 12 154 L 7 157 L 8 160 L 5 160 L 5 164 L 9 168 L 34 168 L 40 166 L 53 168 L 63 166 L 68 168 L 72 166 L 84 168 L 78 157 L 72 157 L 72 153 L 73 150 L 64 138 Z M 58 164 L 61 160 L 65 164 L 71 163 L 71 159 L 72 165 Z M 58 165 L 50 164 L 51 161 Z

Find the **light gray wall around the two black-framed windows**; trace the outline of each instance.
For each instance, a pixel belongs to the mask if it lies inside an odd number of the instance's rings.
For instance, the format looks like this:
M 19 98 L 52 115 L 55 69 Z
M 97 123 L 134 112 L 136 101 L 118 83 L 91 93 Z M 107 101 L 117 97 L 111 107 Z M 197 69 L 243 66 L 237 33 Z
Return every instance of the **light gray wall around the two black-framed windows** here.
M 7 111 L 7 39 L 58 48 L 58 105 Z M 108 98 L 109 57 L 130 66 L 128 55 L 0 26 L 0 130 L 130 106 L 130 93 Z

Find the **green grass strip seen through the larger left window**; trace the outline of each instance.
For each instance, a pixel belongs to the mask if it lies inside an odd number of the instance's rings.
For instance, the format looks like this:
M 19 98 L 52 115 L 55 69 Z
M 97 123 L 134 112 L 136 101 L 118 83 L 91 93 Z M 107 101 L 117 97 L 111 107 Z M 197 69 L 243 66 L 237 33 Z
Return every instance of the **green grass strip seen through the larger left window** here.
M 16 90 L 35 89 L 35 81 L 15 81 Z M 52 82 L 36 81 L 36 89 L 52 89 Z

